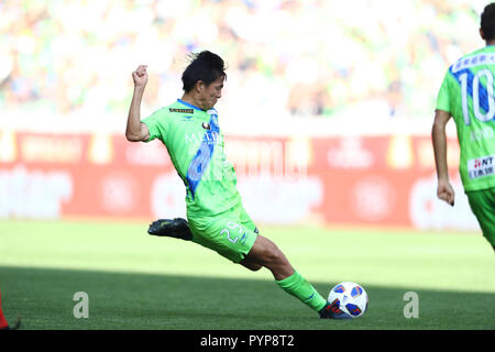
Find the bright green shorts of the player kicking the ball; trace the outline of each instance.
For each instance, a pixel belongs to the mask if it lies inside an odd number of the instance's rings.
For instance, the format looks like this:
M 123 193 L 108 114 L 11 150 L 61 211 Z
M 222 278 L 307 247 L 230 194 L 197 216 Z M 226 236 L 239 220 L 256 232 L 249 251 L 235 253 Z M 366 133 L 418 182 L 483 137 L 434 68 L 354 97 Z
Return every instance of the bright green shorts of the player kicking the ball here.
M 251 251 L 257 229 L 242 204 L 212 217 L 188 215 L 193 242 L 240 263 Z

